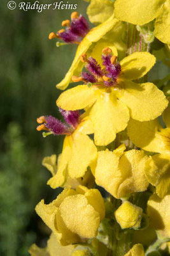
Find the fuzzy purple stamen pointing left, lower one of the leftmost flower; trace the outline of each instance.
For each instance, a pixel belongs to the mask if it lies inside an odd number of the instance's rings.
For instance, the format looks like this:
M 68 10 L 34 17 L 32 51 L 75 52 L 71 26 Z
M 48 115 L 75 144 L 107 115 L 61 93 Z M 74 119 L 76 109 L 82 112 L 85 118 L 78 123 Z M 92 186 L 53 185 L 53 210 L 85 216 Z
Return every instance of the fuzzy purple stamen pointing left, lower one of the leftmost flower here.
M 45 122 L 45 127 L 55 135 L 70 133 L 70 128 L 53 116 L 45 116 Z

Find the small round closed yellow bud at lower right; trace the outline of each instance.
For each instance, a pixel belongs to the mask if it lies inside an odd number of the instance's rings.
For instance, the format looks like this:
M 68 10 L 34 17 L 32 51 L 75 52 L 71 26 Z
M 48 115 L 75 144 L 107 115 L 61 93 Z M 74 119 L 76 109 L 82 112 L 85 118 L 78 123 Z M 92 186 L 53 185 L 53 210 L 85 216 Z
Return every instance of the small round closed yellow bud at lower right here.
M 141 226 L 142 214 L 143 209 L 141 207 L 125 201 L 115 211 L 115 218 L 122 229 L 139 228 Z

